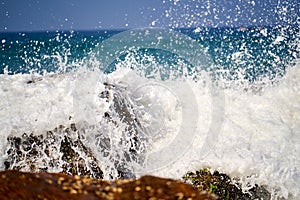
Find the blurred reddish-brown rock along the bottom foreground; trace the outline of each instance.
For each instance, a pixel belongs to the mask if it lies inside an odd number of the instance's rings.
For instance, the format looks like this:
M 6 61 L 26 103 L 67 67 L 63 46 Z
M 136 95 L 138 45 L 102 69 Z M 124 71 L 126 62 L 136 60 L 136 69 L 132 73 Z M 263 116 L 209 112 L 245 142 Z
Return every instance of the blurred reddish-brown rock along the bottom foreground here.
M 217 199 L 178 180 L 143 176 L 114 182 L 55 173 L 0 172 L 1 199 Z

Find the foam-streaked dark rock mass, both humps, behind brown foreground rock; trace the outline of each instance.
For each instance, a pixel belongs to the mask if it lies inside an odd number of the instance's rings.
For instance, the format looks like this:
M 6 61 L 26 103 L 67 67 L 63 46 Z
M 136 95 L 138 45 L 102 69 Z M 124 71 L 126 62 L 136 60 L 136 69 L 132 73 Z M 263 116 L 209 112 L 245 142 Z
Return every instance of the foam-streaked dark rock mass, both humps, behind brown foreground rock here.
M 125 88 L 108 83 L 104 85 L 105 90 L 99 93 L 99 98 L 108 102 L 110 107 L 108 111 L 103 111 L 103 120 L 99 122 L 98 129 L 89 130 L 89 127 L 86 127 L 79 130 L 75 123 L 70 123 L 41 133 L 23 133 L 21 137 L 9 135 L 4 169 L 62 172 L 68 175 L 103 178 L 104 174 L 100 168 L 102 166 L 106 167 L 103 170 L 111 179 L 134 178 L 128 163 L 140 163 L 142 149 L 145 149 L 138 133 L 140 124 L 130 103 L 132 100 L 126 96 Z M 72 117 L 69 119 L 72 120 Z M 120 127 L 125 128 L 121 130 Z M 115 135 L 110 132 L 113 128 L 122 131 L 120 138 L 111 138 Z M 98 152 L 89 148 L 90 144 L 85 140 L 89 136 L 93 137 L 89 142 L 97 143 L 94 150 L 97 149 Z M 111 152 L 111 149 L 114 151 Z M 112 162 L 108 167 L 113 165 L 115 171 L 109 172 L 105 166 L 106 161 L 99 160 L 103 157 Z

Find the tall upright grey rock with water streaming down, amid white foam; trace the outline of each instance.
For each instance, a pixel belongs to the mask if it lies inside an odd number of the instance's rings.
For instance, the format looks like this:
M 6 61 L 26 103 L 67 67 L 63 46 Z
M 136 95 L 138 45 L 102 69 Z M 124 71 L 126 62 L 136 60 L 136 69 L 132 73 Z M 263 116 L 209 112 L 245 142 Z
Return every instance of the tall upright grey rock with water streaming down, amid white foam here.
M 114 162 L 117 175 L 114 178 L 135 178 L 128 163 L 141 164 L 144 160 L 143 154 L 146 149 L 146 139 L 141 134 L 141 124 L 136 114 L 134 100 L 128 95 L 126 87 L 118 84 L 104 83 L 105 90 L 98 97 L 110 103 L 109 110 L 104 112 L 104 126 L 123 127 L 120 138 L 111 138 L 109 131 L 102 131 L 96 135 L 99 141 L 99 151 L 104 157 Z M 120 130 L 118 130 L 119 132 Z M 122 147 L 123 149 L 120 149 Z M 119 150 L 110 154 L 111 149 Z

